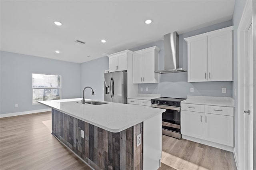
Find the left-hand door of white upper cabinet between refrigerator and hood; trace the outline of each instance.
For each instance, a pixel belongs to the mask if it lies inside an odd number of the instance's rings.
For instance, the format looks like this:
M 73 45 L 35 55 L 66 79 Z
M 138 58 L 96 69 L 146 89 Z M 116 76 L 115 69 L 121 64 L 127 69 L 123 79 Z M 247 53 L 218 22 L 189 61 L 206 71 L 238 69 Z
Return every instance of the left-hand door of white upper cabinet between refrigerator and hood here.
M 142 83 L 143 79 L 143 53 L 135 52 L 133 55 L 133 83 Z

